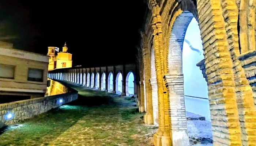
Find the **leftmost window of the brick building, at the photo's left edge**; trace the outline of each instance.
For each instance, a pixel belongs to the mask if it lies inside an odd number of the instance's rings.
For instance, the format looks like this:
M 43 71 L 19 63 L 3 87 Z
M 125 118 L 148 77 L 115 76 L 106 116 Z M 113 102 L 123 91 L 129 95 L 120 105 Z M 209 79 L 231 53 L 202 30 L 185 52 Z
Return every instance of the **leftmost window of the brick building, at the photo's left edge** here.
M 14 79 L 15 66 L 0 64 L 0 78 Z

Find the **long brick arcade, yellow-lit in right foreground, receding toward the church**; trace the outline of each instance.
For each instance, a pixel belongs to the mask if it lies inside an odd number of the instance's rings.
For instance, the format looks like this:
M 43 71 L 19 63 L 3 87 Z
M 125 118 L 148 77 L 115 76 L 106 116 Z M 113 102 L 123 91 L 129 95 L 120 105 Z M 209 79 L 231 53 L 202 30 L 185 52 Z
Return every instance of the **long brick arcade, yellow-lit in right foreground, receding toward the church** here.
M 134 87 L 139 111 L 146 111 L 144 122 L 159 124 L 154 145 L 189 145 L 182 46 L 194 17 L 203 43 L 204 59 L 198 66 L 208 84 L 213 145 L 255 146 L 255 0 L 144 1 L 148 7 L 137 47 Z M 64 73 L 60 79 L 76 82 L 76 74 L 93 70 L 97 69 L 59 69 L 50 77 Z M 115 77 L 117 72 L 113 73 Z M 121 94 L 125 95 L 125 88 Z

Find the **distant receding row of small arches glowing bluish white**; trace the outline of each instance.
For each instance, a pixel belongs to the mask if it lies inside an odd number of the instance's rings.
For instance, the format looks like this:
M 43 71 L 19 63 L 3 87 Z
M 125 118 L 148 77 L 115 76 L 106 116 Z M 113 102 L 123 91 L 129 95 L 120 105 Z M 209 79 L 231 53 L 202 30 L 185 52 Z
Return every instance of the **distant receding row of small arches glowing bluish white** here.
M 129 72 L 127 77 L 123 77 L 122 72 L 118 72 L 114 78 L 113 72 L 109 72 L 107 78 L 106 73 L 103 72 L 101 75 L 99 72 L 90 73 L 48 73 L 48 78 L 56 80 L 70 81 L 78 85 L 85 87 L 99 89 L 101 91 L 113 92 L 121 95 L 134 95 L 135 90 L 135 77 L 133 72 Z M 115 84 L 114 84 L 115 82 Z M 115 86 L 115 87 L 114 87 Z

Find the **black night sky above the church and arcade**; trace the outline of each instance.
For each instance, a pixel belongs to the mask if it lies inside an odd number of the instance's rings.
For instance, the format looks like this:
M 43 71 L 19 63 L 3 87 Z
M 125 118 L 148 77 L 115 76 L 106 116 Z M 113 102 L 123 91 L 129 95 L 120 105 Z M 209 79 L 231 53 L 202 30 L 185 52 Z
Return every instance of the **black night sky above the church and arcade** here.
M 40 54 L 66 41 L 73 65 L 133 63 L 145 8 L 143 0 L 3 0 L 0 40 Z

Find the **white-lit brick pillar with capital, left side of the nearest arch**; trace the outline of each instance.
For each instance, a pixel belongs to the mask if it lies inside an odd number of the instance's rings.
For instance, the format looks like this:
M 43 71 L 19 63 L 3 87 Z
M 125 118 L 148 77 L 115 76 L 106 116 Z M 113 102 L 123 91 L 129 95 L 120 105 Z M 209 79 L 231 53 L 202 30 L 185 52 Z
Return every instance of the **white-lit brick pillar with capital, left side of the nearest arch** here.
M 175 141 L 173 140 L 172 143 L 174 146 L 189 146 L 183 74 L 166 74 L 164 78 L 169 91 L 170 130 L 172 137 L 175 137 Z

